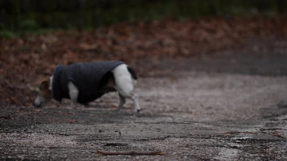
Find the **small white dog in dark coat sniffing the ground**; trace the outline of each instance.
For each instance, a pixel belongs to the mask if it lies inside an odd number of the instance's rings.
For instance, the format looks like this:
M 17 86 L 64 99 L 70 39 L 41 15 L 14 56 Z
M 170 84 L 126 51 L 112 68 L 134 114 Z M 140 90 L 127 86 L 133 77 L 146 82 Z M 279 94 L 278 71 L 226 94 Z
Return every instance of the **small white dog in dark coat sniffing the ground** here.
M 120 103 L 117 110 L 124 106 L 126 98 L 130 98 L 135 112 L 140 112 L 134 92 L 136 80 L 134 70 L 121 61 L 57 65 L 53 76 L 37 88 L 38 95 L 34 105 L 41 107 L 52 98 L 59 102 L 62 98 L 69 98 L 74 110 L 76 103 L 87 104 L 108 92 L 118 91 Z

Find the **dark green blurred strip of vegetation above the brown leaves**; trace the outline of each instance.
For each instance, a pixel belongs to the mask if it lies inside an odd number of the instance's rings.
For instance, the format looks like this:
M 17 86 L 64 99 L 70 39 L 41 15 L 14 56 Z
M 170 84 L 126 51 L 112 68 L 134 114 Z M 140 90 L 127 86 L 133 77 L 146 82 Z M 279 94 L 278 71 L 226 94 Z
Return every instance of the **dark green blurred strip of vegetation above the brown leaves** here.
M 286 14 L 287 0 L 0 0 L 0 35 L 119 22 Z

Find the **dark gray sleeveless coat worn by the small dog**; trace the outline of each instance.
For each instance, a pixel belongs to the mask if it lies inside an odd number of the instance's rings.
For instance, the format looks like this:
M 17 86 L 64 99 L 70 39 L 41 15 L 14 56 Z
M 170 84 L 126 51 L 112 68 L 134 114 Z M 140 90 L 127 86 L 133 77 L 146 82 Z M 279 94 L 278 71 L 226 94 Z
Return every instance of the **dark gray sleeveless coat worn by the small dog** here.
M 79 103 L 93 101 L 104 93 L 99 89 L 103 87 L 103 79 L 110 70 L 124 64 L 121 61 L 98 61 L 90 63 L 76 63 L 70 65 L 57 65 L 54 70 L 52 94 L 55 100 L 70 98 L 68 82 L 72 81 L 79 90 Z

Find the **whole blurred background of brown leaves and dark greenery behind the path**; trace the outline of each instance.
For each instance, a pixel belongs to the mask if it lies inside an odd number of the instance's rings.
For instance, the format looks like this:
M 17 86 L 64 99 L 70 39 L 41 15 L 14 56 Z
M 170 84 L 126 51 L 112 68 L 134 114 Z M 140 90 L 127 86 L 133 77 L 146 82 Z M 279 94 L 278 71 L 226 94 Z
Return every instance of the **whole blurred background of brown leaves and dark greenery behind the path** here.
M 117 59 L 151 76 L 162 60 L 284 39 L 286 6 L 287 0 L 0 0 L 0 102 L 30 105 L 56 64 Z

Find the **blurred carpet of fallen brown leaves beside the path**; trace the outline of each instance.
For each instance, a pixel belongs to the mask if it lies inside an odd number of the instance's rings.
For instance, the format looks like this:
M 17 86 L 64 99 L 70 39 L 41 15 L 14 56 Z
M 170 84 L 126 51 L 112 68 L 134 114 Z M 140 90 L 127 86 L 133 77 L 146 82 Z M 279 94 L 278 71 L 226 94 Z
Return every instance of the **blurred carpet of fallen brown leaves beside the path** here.
M 0 39 L 0 86 L 6 91 L 0 95 L 0 102 L 23 104 L 31 101 L 35 94 L 29 88 L 36 86 L 38 78 L 52 75 L 56 64 L 123 60 L 139 75 L 145 75 L 164 57 L 207 54 L 251 36 L 286 35 L 285 19 L 254 17 L 165 19 L 119 23 L 94 31 L 62 31 Z M 7 80 L 14 83 L 3 83 Z

